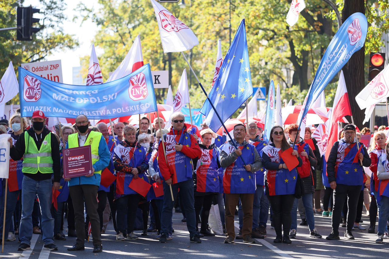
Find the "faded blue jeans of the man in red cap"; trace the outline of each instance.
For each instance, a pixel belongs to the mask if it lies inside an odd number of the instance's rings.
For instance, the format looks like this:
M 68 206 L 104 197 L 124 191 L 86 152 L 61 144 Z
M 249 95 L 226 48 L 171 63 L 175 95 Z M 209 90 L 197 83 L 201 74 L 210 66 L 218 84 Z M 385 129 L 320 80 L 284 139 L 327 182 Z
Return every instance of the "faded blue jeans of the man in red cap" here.
M 53 184 L 51 179 L 35 181 L 23 176 L 22 182 L 22 218 L 20 221 L 19 238 L 21 243 L 31 244 L 32 238 L 32 210 L 35 196 L 38 195 L 42 212 L 42 241 L 45 245 L 53 244 L 54 219 L 51 217 Z

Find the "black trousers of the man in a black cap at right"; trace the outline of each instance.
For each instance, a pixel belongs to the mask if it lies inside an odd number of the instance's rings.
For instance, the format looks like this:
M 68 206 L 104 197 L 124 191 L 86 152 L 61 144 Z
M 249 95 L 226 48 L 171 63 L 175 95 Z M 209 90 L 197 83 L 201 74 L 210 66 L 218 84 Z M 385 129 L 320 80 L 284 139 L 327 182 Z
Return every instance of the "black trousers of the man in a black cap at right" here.
M 334 207 L 332 209 L 332 231 L 338 232 L 340 219 L 342 218 L 342 209 L 345 200 L 347 200 L 347 230 L 351 231 L 357 216 L 357 203 L 362 185 L 336 184 L 334 190 Z

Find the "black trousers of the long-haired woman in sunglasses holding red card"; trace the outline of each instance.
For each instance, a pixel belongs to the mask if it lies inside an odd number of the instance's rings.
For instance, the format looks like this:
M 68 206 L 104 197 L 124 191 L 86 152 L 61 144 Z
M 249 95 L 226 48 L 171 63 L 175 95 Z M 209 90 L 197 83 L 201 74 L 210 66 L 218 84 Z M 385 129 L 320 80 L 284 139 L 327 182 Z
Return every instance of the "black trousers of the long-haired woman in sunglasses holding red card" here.
M 272 222 L 277 236 L 289 235 L 291 230 L 292 217 L 291 210 L 294 203 L 294 195 L 268 195 L 270 205 L 273 210 Z

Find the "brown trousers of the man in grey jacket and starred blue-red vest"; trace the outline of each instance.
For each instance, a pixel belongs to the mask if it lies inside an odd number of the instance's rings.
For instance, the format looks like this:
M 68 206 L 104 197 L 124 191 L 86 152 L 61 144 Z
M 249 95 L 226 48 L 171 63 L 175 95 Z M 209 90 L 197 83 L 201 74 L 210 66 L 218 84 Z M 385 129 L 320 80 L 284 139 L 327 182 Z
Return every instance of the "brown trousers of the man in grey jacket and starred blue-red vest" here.
M 252 230 L 252 204 L 254 202 L 254 193 L 226 193 L 226 231 L 228 236 L 235 238 L 235 210 L 238 202 L 242 203 L 243 209 L 243 238 L 251 236 Z

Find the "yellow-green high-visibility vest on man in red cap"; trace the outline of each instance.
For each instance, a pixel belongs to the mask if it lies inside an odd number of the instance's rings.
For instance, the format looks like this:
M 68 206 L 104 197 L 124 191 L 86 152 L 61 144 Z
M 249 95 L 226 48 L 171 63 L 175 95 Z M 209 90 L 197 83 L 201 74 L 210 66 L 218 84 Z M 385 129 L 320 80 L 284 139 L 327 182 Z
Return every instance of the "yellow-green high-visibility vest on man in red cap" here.
M 51 157 L 51 134 L 47 134 L 38 151 L 35 140 L 25 132 L 26 150 L 23 158 L 22 172 L 27 174 L 36 174 L 38 171 L 42 174 L 53 173 L 53 158 Z

